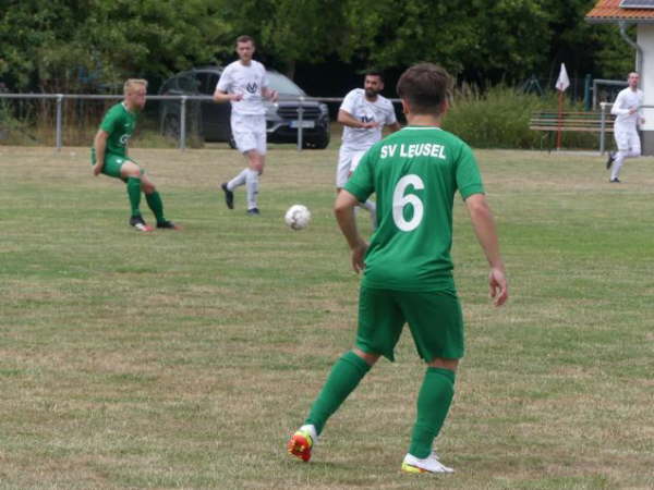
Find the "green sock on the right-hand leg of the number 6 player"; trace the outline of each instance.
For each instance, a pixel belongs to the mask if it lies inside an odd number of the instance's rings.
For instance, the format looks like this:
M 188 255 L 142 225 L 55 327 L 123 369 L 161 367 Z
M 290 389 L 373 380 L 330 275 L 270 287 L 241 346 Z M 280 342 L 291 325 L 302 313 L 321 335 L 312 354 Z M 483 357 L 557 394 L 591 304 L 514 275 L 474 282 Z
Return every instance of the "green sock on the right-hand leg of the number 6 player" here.
M 417 417 L 409 454 L 423 460 L 432 453 L 432 444 L 440 432 L 453 396 L 455 371 L 428 367 L 417 395 Z

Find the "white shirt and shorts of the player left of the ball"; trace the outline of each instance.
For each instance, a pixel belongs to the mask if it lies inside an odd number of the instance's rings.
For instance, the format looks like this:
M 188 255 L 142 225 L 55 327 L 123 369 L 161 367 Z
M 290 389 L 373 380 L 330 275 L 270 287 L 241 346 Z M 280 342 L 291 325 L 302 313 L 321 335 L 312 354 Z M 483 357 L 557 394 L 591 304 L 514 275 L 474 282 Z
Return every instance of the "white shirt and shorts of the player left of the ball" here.
M 268 75 L 262 63 L 251 60 L 249 65 L 240 60 L 227 65 L 216 89 L 240 94 L 243 98 L 231 101 L 231 128 L 239 151 L 255 149 L 266 154 L 266 107 L 262 90 L 268 86 Z

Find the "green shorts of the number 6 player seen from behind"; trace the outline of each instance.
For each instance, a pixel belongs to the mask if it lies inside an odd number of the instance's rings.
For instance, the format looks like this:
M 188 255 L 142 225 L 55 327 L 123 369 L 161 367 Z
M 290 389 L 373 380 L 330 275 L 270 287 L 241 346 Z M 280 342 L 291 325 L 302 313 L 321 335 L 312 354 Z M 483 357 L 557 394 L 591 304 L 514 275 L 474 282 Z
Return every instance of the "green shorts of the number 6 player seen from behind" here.
M 361 287 L 358 348 L 395 360 L 404 323 L 409 323 L 417 354 L 426 363 L 435 357 L 463 357 L 463 316 L 453 289 L 410 292 Z

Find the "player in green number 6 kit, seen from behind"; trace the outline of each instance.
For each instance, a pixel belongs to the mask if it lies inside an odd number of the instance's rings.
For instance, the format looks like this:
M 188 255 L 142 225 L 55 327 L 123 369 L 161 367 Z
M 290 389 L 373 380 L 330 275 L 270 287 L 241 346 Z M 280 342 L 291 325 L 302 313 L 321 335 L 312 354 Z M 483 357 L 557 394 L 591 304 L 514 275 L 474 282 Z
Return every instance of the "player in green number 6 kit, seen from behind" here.
M 488 260 L 496 306 L 507 301 L 508 289 L 474 156 L 465 143 L 440 128 L 450 87 L 451 78 L 440 66 L 421 63 L 407 70 L 397 91 L 408 125 L 363 156 L 336 199 L 335 213 L 352 250 L 352 267 L 363 271 L 359 327 L 354 348 L 334 365 L 304 425 L 289 440 L 289 453 L 305 462 L 327 419 L 377 359 L 393 360 L 407 322 L 426 372 L 402 470 L 453 471 L 439 462 L 433 442 L 449 411 L 464 351 L 450 259 L 457 191 Z M 378 228 L 368 245 L 356 229 L 353 210 L 373 193 L 377 193 Z

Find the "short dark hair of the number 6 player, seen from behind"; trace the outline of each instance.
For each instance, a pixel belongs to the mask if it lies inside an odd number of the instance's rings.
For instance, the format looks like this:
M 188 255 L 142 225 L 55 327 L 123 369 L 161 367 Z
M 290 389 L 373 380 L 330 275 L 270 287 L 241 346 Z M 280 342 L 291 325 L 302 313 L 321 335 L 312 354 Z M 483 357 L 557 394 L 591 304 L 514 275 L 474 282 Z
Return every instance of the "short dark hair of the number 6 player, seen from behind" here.
M 438 115 L 443 101 L 450 97 L 452 77 L 443 66 L 419 63 L 402 73 L 396 90 L 413 112 Z

